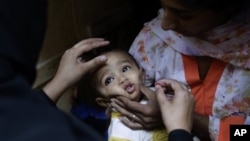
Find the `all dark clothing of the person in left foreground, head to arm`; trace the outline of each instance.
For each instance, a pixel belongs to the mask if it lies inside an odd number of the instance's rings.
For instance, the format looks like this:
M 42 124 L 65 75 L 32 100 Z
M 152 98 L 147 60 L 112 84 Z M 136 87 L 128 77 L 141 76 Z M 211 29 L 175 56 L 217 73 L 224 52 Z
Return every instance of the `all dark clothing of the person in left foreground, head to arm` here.
M 46 16 L 46 0 L 0 2 L 0 140 L 104 140 L 32 90 Z

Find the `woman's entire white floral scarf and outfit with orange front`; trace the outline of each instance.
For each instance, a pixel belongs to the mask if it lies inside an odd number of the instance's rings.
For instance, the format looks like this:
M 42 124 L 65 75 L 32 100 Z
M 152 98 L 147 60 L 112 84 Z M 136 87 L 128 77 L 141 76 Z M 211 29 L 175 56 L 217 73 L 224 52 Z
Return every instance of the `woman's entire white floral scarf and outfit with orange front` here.
M 160 9 L 159 16 L 145 24 L 129 52 L 145 70 L 147 86 L 162 78 L 188 84 L 199 102 L 196 112 L 210 116 L 211 138 L 219 140 L 219 130 L 229 128 L 222 127 L 222 119 L 249 117 L 250 12 L 235 15 L 226 24 L 197 38 L 164 31 L 162 16 Z M 203 82 L 199 79 L 195 56 L 214 58 Z

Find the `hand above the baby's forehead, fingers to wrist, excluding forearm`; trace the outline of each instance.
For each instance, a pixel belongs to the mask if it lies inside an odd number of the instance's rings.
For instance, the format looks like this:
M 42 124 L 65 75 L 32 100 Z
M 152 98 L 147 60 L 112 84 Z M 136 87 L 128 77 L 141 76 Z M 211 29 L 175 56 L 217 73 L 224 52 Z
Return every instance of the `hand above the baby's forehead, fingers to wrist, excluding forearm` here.
M 67 86 L 73 85 L 89 71 L 107 61 L 104 55 L 85 61 L 81 57 L 82 54 L 108 44 L 109 41 L 105 41 L 102 38 L 90 38 L 80 41 L 74 47 L 65 51 L 55 78 L 60 80 L 60 82 L 65 82 Z

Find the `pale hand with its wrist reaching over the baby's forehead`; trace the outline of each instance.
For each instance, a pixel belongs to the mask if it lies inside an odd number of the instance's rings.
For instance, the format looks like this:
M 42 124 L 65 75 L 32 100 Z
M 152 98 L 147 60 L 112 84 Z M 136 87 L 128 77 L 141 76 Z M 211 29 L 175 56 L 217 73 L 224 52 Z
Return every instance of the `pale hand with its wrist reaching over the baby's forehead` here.
M 82 40 L 63 54 L 55 77 L 43 88 L 45 93 L 54 101 L 60 98 L 63 92 L 79 81 L 92 69 L 104 64 L 106 56 L 98 56 L 85 61 L 81 55 L 98 47 L 109 44 L 102 38 L 90 38 Z

